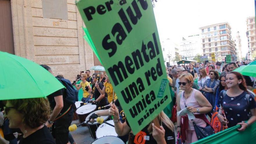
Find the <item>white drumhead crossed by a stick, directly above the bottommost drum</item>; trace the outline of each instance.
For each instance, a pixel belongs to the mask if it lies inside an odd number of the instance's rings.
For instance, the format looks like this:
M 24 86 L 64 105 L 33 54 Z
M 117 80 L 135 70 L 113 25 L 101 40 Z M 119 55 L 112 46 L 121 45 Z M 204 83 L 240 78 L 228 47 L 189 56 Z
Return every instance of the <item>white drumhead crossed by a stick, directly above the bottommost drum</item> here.
M 114 125 L 113 120 L 108 120 L 106 122 Z M 118 136 L 118 135 L 116 134 L 114 127 L 112 127 L 106 123 L 102 123 L 96 131 L 96 138 L 98 139 L 98 138 L 101 138 L 104 136 Z

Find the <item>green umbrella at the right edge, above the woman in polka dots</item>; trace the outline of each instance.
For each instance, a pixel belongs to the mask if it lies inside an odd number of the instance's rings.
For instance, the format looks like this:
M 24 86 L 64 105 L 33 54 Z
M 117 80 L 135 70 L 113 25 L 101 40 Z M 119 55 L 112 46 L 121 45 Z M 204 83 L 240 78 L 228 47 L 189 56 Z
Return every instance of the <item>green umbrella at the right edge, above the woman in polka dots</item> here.
M 256 65 L 252 64 L 252 65 L 245 65 L 245 66 L 238 67 L 233 72 L 239 72 L 245 76 L 256 77 L 255 70 L 256 70 Z

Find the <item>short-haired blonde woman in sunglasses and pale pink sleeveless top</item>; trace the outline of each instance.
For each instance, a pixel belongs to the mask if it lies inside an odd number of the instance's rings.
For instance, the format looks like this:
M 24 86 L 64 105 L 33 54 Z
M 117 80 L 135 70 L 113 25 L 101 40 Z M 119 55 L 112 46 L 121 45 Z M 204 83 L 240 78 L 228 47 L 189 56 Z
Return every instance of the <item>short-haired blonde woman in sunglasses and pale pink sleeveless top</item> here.
M 198 90 L 192 88 L 194 83 L 191 74 L 182 74 L 179 77 L 179 86 L 183 92 L 177 96 L 177 112 L 182 109 L 188 109 L 195 114 L 194 122 L 200 127 L 206 127 L 207 120 L 205 113 L 211 111 L 212 106 L 207 99 Z M 177 116 L 177 132 L 182 131 L 182 140 L 186 143 L 193 143 L 197 141 L 193 123 L 187 116 Z

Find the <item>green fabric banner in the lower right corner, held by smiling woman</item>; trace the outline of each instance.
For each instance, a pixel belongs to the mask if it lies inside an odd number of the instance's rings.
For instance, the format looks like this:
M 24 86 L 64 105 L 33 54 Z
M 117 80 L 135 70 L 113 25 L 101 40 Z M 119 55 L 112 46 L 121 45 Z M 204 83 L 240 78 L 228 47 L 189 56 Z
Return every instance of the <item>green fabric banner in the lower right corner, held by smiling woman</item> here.
M 234 127 L 230 127 L 224 131 L 203 138 L 193 144 L 256 143 L 256 122 L 247 127 L 245 131 L 237 131 L 239 127 L 241 126 L 236 125 Z

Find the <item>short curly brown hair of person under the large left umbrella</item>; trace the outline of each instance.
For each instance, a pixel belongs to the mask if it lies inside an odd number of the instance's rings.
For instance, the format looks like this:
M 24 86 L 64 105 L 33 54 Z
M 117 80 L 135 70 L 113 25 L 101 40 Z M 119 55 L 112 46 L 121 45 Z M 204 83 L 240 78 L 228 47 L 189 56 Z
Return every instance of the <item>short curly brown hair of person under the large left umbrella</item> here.
M 47 98 L 13 99 L 8 102 L 24 115 L 23 123 L 31 128 L 43 125 L 50 116 L 50 104 Z

